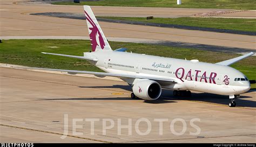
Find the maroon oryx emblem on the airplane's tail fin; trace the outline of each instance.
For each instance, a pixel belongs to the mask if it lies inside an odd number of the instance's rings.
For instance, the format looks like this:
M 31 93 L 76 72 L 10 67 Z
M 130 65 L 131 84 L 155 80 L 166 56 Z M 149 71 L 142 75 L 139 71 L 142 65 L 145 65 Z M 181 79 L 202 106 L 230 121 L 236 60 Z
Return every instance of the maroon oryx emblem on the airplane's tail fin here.
M 93 22 L 92 18 L 88 15 L 88 13 L 86 11 L 84 11 L 85 16 L 86 16 L 86 20 L 91 24 L 91 26 L 89 27 L 89 30 L 91 30 L 90 33 L 90 39 L 91 39 L 91 44 L 92 44 L 92 52 L 94 52 L 96 50 L 97 46 L 100 46 L 100 48 L 102 48 L 102 50 L 105 47 L 105 43 L 102 37 L 102 34 L 100 33 L 97 25 Z

